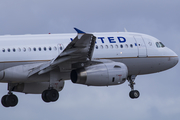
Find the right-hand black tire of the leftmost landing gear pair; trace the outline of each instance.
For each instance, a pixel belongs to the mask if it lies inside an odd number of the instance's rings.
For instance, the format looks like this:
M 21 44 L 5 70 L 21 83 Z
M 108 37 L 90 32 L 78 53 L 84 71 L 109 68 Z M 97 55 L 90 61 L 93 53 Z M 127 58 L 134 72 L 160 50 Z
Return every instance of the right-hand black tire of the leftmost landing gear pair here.
M 18 98 L 17 98 L 17 96 L 16 96 L 16 95 L 13 95 L 13 94 L 8 95 L 8 96 L 6 97 L 6 103 L 7 103 L 9 106 L 11 106 L 11 107 L 16 106 L 16 105 L 18 104 Z

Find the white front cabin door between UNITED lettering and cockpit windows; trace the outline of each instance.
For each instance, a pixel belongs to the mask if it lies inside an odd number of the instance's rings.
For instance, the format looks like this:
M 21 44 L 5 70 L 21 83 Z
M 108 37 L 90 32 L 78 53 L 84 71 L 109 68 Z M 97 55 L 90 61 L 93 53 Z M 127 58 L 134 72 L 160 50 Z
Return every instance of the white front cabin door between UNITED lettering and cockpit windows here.
M 147 57 L 146 44 L 141 36 L 134 36 L 138 48 L 138 57 Z

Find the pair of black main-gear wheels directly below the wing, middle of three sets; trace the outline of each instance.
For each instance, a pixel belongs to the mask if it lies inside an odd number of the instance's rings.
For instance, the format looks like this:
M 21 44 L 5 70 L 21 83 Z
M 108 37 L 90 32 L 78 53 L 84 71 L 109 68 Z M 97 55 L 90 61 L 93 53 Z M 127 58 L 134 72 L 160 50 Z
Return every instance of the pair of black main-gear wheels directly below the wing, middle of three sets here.
M 59 93 L 56 89 L 49 88 L 48 90 L 43 91 L 41 97 L 44 102 L 55 102 L 59 98 Z

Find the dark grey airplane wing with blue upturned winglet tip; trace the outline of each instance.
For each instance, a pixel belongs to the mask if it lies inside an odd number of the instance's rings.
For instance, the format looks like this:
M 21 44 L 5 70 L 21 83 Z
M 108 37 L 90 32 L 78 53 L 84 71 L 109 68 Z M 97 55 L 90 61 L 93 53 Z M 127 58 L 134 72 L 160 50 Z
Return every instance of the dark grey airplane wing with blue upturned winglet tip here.
M 85 33 L 77 28 L 77 36 L 67 47 L 53 60 L 46 62 L 38 67 L 31 69 L 28 77 L 38 73 L 44 74 L 52 71 L 57 67 L 67 65 L 71 66 L 75 63 L 85 63 L 91 61 L 96 37 L 93 34 Z

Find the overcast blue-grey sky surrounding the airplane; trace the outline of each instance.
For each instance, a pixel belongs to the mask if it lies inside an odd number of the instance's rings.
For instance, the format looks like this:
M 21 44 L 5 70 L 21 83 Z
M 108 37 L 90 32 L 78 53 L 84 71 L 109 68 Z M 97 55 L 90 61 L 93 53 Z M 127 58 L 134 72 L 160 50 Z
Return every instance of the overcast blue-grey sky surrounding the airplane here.
M 87 32 L 138 32 L 152 35 L 180 55 L 179 0 L 1 0 L 0 35 Z M 1 56 L 3 57 L 3 56 Z M 67 81 L 55 103 L 41 95 L 15 93 L 14 108 L 0 106 L 0 119 L 24 120 L 179 120 L 179 64 L 138 76 L 140 98 L 129 98 L 128 82 L 87 87 Z M 0 84 L 0 97 L 7 84 Z

